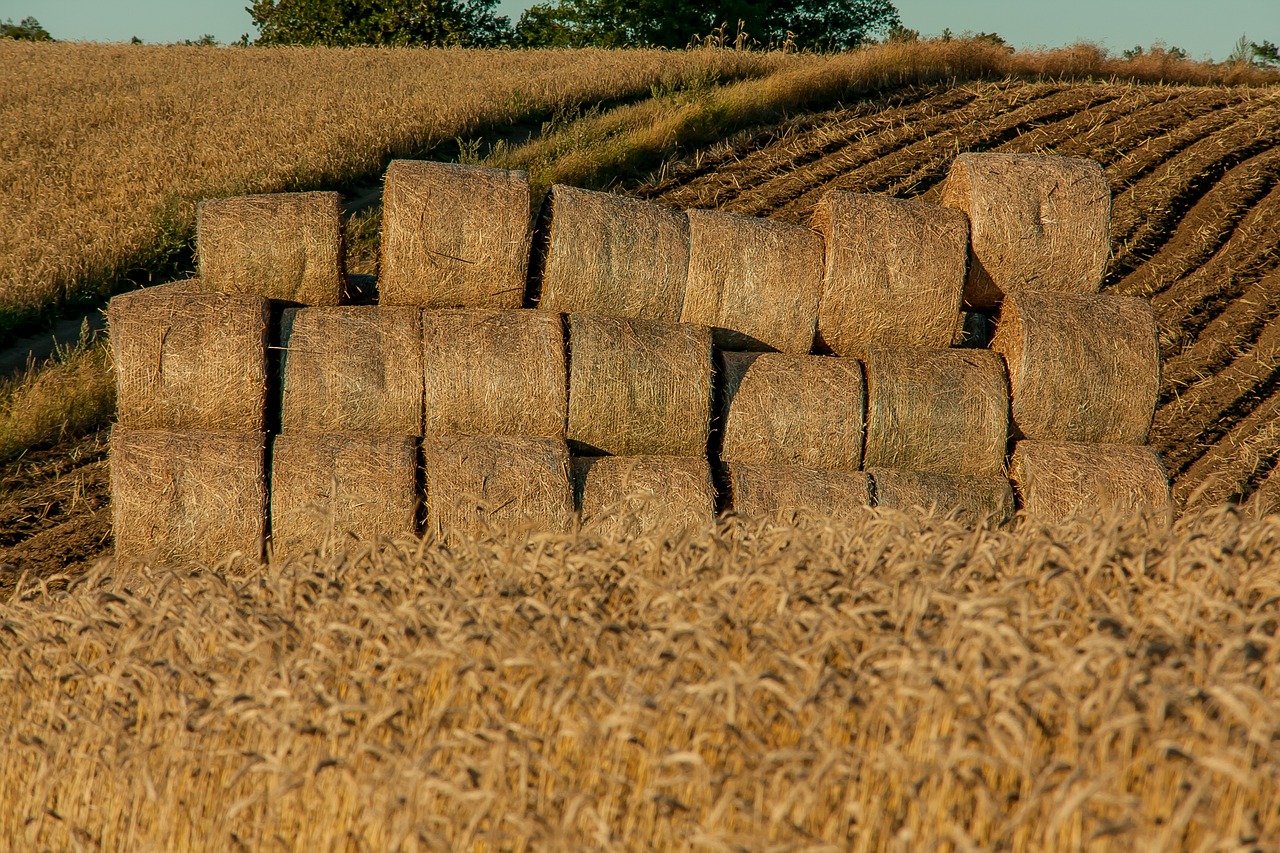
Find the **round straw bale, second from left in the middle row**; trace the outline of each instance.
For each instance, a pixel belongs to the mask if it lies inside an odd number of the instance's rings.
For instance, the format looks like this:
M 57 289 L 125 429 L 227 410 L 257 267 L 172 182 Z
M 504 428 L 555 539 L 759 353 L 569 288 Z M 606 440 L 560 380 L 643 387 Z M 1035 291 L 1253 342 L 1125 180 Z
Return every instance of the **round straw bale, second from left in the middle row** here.
M 280 341 L 283 432 L 422 434 L 420 309 L 291 309 Z

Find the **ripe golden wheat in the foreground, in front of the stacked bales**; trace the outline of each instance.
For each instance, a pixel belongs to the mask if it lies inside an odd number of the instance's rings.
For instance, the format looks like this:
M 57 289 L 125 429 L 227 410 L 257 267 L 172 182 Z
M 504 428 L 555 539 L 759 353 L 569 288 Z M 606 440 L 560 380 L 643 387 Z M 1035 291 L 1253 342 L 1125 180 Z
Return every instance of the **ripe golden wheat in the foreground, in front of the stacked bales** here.
M 1280 519 L 868 511 L 0 605 L 22 849 L 1280 845 Z

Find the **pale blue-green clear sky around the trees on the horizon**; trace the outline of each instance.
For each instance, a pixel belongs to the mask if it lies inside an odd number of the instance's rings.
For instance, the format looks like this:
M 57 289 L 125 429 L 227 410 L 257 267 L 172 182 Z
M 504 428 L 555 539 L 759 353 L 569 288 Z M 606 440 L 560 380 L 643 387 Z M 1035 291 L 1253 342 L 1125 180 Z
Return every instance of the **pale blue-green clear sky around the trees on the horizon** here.
M 180 41 L 255 35 L 248 0 L 0 0 L 0 19 L 33 15 L 54 38 Z M 530 3 L 502 0 L 520 17 Z M 1120 51 L 1164 41 L 1193 58 L 1225 59 L 1242 35 L 1280 42 L 1280 0 L 896 0 L 902 22 L 924 35 L 998 32 L 1012 45 L 1094 41 Z

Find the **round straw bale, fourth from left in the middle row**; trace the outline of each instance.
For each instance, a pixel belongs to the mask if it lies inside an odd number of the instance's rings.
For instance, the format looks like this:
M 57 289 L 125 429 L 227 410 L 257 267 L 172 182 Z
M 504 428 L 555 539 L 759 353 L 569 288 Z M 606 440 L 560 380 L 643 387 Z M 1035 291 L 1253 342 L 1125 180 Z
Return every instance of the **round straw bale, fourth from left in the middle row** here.
M 572 314 L 568 324 L 568 439 L 577 452 L 707 455 L 707 327 L 594 314 Z

